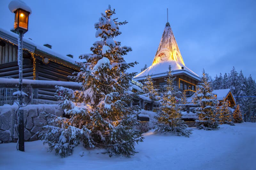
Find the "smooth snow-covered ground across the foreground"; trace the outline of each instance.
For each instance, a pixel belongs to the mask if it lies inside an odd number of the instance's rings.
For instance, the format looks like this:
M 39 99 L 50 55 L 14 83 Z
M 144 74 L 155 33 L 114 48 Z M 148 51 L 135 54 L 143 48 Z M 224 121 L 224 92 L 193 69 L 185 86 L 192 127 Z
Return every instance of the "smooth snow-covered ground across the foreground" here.
M 0 144 L 0 169 L 255 169 L 256 123 L 221 125 L 217 131 L 192 129 L 190 138 L 144 133 L 144 142 L 136 146 L 139 153 L 131 158 L 109 158 L 83 147 L 60 158 L 46 152 L 42 141 L 26 142 L 26 152 L 16 151 L 16 143 Z

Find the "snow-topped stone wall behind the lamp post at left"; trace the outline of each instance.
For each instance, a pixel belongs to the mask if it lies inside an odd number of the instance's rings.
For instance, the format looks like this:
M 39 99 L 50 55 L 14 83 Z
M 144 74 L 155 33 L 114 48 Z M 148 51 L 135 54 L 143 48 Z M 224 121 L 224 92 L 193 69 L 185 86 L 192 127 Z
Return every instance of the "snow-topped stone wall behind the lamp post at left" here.
M 17 109 L 18 107 L 15 105 L 0 106 L 0 143 L 17 142 L 18 118 L 15 117 Z M 42 131 L 42 126 L 47 124 L 42 112 L 45 111 L 56 116 L 63 116 L 64 113 L 57 104 L 31 104 L 23 107 L 23 110 L 25 141 L 37 140 L 36 132 Z

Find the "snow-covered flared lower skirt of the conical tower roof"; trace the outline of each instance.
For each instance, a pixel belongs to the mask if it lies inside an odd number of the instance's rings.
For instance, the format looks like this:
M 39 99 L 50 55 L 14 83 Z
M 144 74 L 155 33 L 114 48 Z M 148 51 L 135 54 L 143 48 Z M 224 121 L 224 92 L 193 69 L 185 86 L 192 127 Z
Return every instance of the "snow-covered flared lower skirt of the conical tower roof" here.
M 184 66 L 178 61 L 174 60 L 168 60 L 165 62 L 160 62 L 154 65 L 151 65 L 148 67 L 146 70 L 142 71 L 140 74 L 136 75 L 134 79 L 136 80 L 143 80 L 147 75 L 151 75 L 151 78 L 157 78 L 157 77 L 162 77 L 166 76 L 168 73 L 168 67 L 171 65 L 172 67 L 172 74 L 181 74 L 185 73 L 188 74 L 189 76 L 195 78 L 196 80 L 200 81 L 200 77 L 191 71 L 188 67 Z M 181 69 L 183 67 L 184 69 Z

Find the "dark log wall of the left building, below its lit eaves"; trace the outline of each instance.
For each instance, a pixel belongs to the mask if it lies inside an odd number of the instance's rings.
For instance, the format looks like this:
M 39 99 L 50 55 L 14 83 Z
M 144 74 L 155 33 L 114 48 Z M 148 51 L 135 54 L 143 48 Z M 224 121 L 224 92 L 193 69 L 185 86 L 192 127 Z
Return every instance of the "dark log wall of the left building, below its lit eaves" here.
M 72 81 L 68 75 L 72 75 L 75 69 L 65 67 L 61 64 L 50 61 L 45 64 L 42 58 L 36 58 L 33 66 L 33 58 L 28 51 L 23 50 L 23 78 L 34 79 L 33 67 L 35 67 L 36 80 Z M 0 41 L 0 77 L 19 78 L 18 48 L 12 44 Z M 72 64 L 70 64 L 72 66 Z M 34 89 L 34 98 L 55 100 L 56 89 Z

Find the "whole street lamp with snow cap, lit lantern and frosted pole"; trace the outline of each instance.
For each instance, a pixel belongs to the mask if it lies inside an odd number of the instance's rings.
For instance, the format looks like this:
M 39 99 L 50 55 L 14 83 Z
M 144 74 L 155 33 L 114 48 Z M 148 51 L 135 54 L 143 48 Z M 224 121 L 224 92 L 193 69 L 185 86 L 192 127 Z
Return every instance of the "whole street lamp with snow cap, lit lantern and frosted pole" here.
M 31 14 L 31 9 L 22 1 L 11 1 L 8 5 L 9 10 L 15 13 L 14 31 L 19 33 L 18 38 L 18 66 L 19 66 L 19 112 L 18 112 L 18 135 L 19 135 L 19 150 L 24 149 L 24 115 L 23 109 L 20 108 L 23 103 L 24 93 L 22 92 L 22 50 L 23 50 L 23 34 L 28 31 L 28 16 Z

